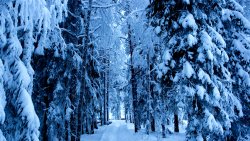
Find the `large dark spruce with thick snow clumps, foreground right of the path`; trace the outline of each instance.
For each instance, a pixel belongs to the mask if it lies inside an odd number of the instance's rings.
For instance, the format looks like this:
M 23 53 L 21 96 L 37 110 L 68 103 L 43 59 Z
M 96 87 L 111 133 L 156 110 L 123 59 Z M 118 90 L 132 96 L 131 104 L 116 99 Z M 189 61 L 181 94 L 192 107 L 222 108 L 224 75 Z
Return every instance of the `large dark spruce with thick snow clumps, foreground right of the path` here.
M 158 75 L 168 87 L 180 85 L 179 98 L 189 107 L 189 140 L 225 140 L 232 120 L 242 116 L 221 35 L 223 9 L 232 9 L 231 3 L 236 2 L 164 0 L 148 7 L 151 25 L 165 40 Z

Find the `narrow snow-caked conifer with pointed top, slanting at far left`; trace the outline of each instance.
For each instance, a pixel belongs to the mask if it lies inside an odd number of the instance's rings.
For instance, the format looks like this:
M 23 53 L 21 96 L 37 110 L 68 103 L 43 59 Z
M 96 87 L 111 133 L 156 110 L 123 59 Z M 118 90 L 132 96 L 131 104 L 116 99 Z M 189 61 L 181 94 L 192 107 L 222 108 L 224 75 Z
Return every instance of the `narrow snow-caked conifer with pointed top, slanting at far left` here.
M 16 122 L 18 130 L 14 130 L 8 139 L 16 140 L 38 140 L 39 137 L 39 119 L 34 110 L 31 95 L 28 93 L 28 86 L 32 81 L 28 75 L 24 63 L 19 58 L 22 52 L 22 46 L 13 30 L 13 23 L 10 18 L 7 20 L 10 27 L 6 31 L 9 34 L 7 43 L 3 48 L 4 66 L 10 78 L 5 78 L 7 89 L 8 108 L 12 105 L 14 113 L 8 113 L 7 122 Z M 10 80 L 8 80 L 10 79 Z M 11 83 L 9 83 L 11 82 Z M 10 110 L 10 109 L 9 109 Z M 12 110 L 12 109 L 11 109 Z M 8 111 L 11 112 L 11 111 Z M 18 118 L 20 118 L 18 120 Z M 12 121 L 10 120 L 12 119 Z M 5 129 L 10 129 L 6 127 Z M 17 136 L 19 134 L 19 136 Z

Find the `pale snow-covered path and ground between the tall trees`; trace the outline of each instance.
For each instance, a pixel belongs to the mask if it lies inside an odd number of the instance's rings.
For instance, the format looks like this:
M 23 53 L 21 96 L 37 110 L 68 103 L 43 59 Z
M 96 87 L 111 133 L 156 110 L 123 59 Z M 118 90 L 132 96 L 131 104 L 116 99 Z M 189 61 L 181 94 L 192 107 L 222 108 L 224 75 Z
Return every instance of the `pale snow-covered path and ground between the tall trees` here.
M 93 135 L 82 135 L 81 141 L 185 141 L 185 133 L 174 133 L 161 138 L 160 133 L 134 133 L 134 125 L 114 120 L 111 125 L 99 127 Z

